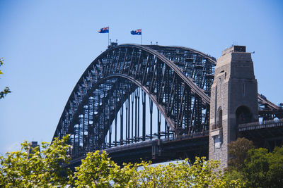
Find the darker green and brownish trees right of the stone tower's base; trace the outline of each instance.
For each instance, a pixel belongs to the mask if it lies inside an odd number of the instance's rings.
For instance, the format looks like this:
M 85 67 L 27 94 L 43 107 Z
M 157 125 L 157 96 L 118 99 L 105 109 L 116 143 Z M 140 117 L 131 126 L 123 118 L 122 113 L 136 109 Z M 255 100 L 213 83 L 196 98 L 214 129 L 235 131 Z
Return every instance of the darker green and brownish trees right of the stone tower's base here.
M 233 156 L 229 159 L 224 177 L 226 181 L 241 180 L 245 187 L 282 187 L 283 148 L 254 149 L 247 139 L 237 139 L 229 144 Z

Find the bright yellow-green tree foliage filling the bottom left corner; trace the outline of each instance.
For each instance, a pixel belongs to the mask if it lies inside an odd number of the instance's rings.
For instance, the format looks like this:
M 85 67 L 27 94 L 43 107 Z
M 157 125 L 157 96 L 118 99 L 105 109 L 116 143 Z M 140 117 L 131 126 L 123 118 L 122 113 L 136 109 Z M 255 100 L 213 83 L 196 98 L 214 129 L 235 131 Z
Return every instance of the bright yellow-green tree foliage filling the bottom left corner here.
M 37 146 L 30 154 L 30 144 L 24 142 L 21 151 L 0 156 L 0 187 L 65 186 L 68 182 L 65 175 L 71 175 L 71 170 L 62 170 L 61 165 L 69 162 L 68 139 L 55 139 L 51 145 L 42 142 L 43 150 Z

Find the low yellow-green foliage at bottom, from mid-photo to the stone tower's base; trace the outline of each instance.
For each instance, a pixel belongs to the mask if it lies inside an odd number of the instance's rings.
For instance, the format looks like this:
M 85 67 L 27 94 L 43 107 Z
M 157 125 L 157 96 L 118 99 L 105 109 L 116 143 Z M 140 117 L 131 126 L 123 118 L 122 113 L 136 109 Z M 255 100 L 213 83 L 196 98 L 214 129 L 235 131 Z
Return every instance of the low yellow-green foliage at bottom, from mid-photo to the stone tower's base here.
M 241 187 L 241 180 L 228 181 L 219 170 L 219 161 L 195 158 L 195 163 L 185 161 L 164 165 L 142 162 L 135 171 L 132 187 Z

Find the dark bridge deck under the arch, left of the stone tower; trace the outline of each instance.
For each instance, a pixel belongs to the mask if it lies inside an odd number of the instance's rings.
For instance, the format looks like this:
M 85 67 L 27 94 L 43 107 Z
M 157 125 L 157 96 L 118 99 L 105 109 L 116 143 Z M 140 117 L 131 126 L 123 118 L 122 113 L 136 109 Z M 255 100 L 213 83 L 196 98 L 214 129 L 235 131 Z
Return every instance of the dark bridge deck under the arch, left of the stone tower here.
M 153 139 L 144 142 L 125 144 L 105 149 L 115 163 L 137 163 L 152 161 L 161 163 L 177 159 L 195 158 L 197 156 L 208 157 L 209 131 L 187 134 L 178 138 Z M 68 166 L 74 167 L 81 164 L 81 159 L 86 156 L 74 158 Z

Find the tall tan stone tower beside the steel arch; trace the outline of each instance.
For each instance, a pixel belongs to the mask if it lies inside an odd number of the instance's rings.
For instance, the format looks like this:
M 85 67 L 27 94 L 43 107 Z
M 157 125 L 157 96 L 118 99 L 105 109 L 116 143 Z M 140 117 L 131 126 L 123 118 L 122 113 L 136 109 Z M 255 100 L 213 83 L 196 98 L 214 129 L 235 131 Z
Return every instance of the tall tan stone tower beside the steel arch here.
M 224 169 L 238 124 L 258 120 L 258 83 L 246 46 L 232 46 L 217 59 L 209 117 L 209 159 L 219 160 Z

